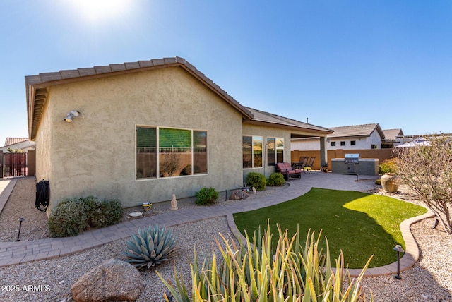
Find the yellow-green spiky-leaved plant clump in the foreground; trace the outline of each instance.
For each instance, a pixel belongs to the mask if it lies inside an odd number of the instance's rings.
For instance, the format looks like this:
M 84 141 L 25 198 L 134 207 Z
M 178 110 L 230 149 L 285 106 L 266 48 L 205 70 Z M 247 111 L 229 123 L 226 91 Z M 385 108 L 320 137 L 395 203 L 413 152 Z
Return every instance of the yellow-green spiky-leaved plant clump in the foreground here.
M 194 251 L 191 267 L 191 295 L 187 293 L 184 279 L 174 269 L 176 286 L 170 284 L 157 272 L 169 289 L 164 294 L 174 301 L 367 301 L 362 288 L 362 277 L 369 266 L 364 266 L 356 279 L 350 277 L 340 253 L 335 267 L 331 267 L 328 241 L 325 253 L 319 248 L 321 234 L 307 234 L 306 243 L 299 237 L 299 230 L 288 238 L 287 230 L 278 226 L 279 240 L 272 245 L 270 225 L 261 236 L 258 231 L 246 242 L 231 243 L 222 236 L 220 258 L 213 253 L 201 266 Z M 220 235 L 221 236 L 221 235 Z M 223 248 L 224 246 L 224 248 Z M 372 296 L 370 296 L 372 301 Z

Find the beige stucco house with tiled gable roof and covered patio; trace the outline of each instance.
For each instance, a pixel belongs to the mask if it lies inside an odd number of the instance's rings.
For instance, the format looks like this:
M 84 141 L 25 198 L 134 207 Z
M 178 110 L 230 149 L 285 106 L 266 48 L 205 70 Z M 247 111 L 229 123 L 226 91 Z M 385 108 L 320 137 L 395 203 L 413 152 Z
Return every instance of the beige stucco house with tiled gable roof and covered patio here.
M 124 207 L 243 186 L 290 162 L 292 138 L 332 131 L 246 108 L 182 58 L 25 77 L 36 177 L 62 199 L 97 195 Z

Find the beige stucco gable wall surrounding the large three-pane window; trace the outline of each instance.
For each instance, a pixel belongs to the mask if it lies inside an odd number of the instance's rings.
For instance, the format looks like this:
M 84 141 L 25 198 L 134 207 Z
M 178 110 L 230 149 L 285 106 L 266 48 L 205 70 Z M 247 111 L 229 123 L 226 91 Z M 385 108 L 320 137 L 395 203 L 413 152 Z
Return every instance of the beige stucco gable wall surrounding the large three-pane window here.
M 242 183 L 242 115 L 182 68 L 52 86 L 48 104 L 36 143 L 51 209 L 68 197 L 119 198 L 131 207 Z M 71 110 L 81 116 L 66 123 Z M 137 125 L 207 131 L 208 174 L 136 180 Z

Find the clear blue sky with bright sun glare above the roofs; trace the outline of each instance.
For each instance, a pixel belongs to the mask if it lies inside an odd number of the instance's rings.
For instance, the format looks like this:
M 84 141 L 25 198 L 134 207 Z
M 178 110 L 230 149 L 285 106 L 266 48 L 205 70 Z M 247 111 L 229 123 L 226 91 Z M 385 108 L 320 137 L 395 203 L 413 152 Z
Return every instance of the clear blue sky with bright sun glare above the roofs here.
M 452 1 L 0 1 L 0 145 L 25 75 L 181 56 L 241 104 L 317 126 L 452 132 Z

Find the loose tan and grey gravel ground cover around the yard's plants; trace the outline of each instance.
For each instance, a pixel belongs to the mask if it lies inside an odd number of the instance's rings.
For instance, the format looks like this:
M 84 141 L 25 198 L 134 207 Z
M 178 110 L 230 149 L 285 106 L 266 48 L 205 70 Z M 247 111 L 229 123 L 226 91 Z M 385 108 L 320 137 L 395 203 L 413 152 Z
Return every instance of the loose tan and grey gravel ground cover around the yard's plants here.
M 369 181 L 371 182 L 371 181 Z M 270 188 L 258 194 L 250 195 L 251 199 L 272 194 L 282 188 Z M 391 195 L 395 198 L 419 203 L 406 188 L 400 188 L 397 193 L 384 193 L 376 186 L 371 193 Z M 36 210 L 35 178 L 18 179 L 8 203 L 0 214 L 0 241 L 16 240 L 18 232 L 18 218 L 24 217 L 20 233 L 20 241 L 31 241 L 47 238 L 47 215 Z M 246 201 L 225 200 L 220 195 L 219 203 L 237 203 Z M 193 199 L 181 200 L 178 207 L 191 207 Z M 127 209 L 124 219 L 131 219 L 128 212 L 141 210 Z M 157 215 L 169 211 L 168 203 L 153 205 L 152 210 L 145 215 Z M 402 272 L 402 279 L 393 276 L 371 277 L 364 279 L 364 286 L 374 294 L 374 301 L 452 301 L 452 236 L 437 227 L 433 229 L 434 219 L 425 219 L 412 225 L 412 233 L 421 249 L 420 261 L 410 270 Z M 218 252 L 215 237 L 218 234 L 232 236 L 225 217 L 206 219 L 189 224 L 171 227 L 177 238 L 179 253 L 174 261 L 177 272 L 182 272 L 186 282 L 189 282 L 189 263 L 193 259 L 193 249 L 196 246 L 198 255 L 209 256 Z M 232 240 L 232 239 L 231 239 Z M 73 301 L 71 285 L 83 274 L 109 258 L 122 259 L 124 240 L 105 244 L 76 255 L 28 262 L 0 268 L 0 301 Z M 160 265 L 157 270 L 167 279 L 173 278 L 173 263 Z M 141 271 L 145 290 L 138 301 L 163 301 L 162 292 L 165 286 L 155 274 L 154 270 Z M 20 291 L 6 291 L 6 286 L 16 286 Z M 31 288 L 28 286 L 32 286 Z M 33 291 L 41 286 L 43 291 Z

